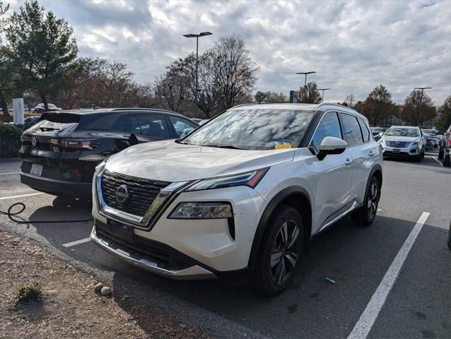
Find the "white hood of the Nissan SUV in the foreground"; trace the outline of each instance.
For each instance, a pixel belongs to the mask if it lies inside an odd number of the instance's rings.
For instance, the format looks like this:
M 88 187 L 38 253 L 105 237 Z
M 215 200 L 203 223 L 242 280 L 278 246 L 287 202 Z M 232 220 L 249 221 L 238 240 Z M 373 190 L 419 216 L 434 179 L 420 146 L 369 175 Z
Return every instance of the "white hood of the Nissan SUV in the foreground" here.
M 292 161 L 294 153 L 295 149 L 233 150 L 156 141 L 112 155 L 105 168 L 131 177 L 185 182 L 279 165 Z

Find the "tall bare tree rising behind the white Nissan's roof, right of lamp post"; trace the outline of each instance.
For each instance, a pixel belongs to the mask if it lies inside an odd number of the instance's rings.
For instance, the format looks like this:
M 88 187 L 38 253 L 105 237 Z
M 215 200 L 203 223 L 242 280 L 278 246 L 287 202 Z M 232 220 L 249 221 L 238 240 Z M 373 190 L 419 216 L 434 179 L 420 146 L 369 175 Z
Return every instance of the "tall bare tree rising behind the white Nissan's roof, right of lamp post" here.
M 211 56 L 218 106 L 228 109 L 247 100 L 257 81 L 258 68 L 241 37 L 220 37 Z

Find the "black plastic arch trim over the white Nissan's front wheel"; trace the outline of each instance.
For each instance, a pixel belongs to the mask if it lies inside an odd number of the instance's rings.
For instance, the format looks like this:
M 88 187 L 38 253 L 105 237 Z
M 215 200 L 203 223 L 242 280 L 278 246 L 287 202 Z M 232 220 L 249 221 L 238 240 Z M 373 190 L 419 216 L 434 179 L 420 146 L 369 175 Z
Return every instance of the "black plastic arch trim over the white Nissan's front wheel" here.
M 304 224 L 304 249 L 310 249 L 310 238 L 312 234 L 312 205 L 310 203 L 310 196 L 307 190 L 302 186 L 289 186 L 271 199 L 262 214 L 262 218 L 259 220 L 252 242 L 249 261 L 247 263 L 247 267 L 251 270 L 253 270 L 255 263 L 257 262 L 260 245 L 262 244 L 262 239 L 267 230 L 267 225 L 281 205 L 291 206 L 300 213 Z

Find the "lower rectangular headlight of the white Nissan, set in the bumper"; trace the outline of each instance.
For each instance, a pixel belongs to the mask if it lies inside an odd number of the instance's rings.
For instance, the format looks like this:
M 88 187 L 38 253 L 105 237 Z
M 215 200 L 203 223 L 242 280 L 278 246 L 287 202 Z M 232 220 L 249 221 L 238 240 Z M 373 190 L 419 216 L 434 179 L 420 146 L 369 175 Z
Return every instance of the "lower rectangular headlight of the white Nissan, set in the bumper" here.
M 226 219 L 232 218 L 232 206 L 227 202 L 179 203 L 169 219 Z

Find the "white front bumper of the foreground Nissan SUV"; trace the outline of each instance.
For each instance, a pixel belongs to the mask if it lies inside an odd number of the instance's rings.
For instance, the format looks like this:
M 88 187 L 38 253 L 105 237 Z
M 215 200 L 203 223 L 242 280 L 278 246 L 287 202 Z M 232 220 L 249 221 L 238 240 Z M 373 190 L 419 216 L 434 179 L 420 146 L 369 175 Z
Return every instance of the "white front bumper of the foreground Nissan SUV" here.
M 132 235 L 137 239 L 164 244 L 191 261 L 199 263 L 197 266 L 215 276 L 247 268 L 254 234 L 264 206 L 266 206 L 264 199 L 257 191 L 247 186 L 205 191 L 184 191 L 176 195 L 168 203 L 168 206 L 165 206 L 165 209 L 158 213 L 158 218 L 152 220 L 153 226 L 146 229 L 134 225 L 133 222 L 125 218 L 120 218 L 118 214 L 108 215 L 108 213 L 105 213 L 107 212 L 105 209 L 100 211 L 97 184 L 96 181 L 96 184 L 93 185 L 93 199 L 95 199 L 93 201 L 96 202 L 93 203 L 93 217 L 96 223 L 107 225 L 109 222 L 120 222 L 125 227 L 130 227 Z M 230 230 L 230 220 L 228 219 L 177 220 L 168 218 L 178 203 L 204 201 L 228 201 L 233 209 L 233 230 Z M 146 265 L 146 262 L 143 263 L 132 258 L 129 255 L 130 251 L 133 250 L 129 246 L 130 244 L 126 244 L 125 249 L 117 251 L 108 241 L 100 242 L 100 240 L 95 239 L 95 233 L 91 235 L 91 239 L 111 254 L 119 256 L 119 258 L 127 259 L 134 265 L 147 270 L 156 270 L 153 263 Z M 177 275 L 164 270 L 158 270 L 156 273 L 169 278 L 178 276 L 182 279 L 187 279 L 191 275 L 198 279 L 199 274 L 209 277 L 209 274 L 197 268 L 196 265 L 191 267 L 194 268 L 184 270 Z M 174 270 L 171 269 L 170 271 Z

